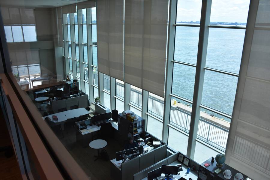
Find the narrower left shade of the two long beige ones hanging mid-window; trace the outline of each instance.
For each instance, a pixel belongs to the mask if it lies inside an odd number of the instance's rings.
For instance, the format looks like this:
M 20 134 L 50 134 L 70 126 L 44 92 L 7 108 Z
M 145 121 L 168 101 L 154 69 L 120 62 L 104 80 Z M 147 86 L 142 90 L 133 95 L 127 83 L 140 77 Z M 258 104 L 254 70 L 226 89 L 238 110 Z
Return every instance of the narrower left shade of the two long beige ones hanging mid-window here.
M 124 80 L 124 1 L 97 1 L 98 71 Z

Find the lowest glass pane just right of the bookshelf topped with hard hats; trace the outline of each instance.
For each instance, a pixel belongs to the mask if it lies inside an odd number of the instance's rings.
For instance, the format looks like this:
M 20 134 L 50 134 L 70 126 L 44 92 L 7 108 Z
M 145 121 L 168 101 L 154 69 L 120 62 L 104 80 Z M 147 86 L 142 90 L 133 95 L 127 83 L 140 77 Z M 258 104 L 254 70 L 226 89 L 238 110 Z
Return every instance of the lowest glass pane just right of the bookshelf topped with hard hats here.
M 158 139 L 162 139 L 162 122 L 158 121 L 151 116 L 147 116 L 147 132 L 153 134 Z

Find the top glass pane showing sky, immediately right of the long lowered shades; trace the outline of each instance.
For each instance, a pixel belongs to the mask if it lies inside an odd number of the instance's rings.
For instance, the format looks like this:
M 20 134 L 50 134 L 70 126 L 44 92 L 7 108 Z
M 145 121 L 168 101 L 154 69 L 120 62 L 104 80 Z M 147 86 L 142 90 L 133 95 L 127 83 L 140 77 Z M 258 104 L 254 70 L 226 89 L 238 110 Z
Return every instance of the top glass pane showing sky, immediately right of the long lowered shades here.
M 196 23 L 199 24 L 201 20 L 202 1 L 197 0 L 178 0 L 177 1 L 177 16 L 176 23 Z

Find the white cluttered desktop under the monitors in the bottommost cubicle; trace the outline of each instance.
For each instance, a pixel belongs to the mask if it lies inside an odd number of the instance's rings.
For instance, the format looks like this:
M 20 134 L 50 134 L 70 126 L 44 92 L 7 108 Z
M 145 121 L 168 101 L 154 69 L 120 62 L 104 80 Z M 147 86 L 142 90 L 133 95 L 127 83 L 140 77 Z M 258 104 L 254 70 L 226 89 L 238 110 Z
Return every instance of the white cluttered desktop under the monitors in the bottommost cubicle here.
M 174 161 L 174 162 L 172 162 L 171 164 L 169 164 L 169 165 L 171 165 L 171 166 L 177 166 L 177 165 L 179 165 L 179 164 L 182 164 L 182 163 L 179 163 L 178 161 Z M 194 172 L 194 171 L 191 171 L 190 170 L 190 173 L 188 173 L 188 174 L 186 174 L 186 172 L 187 172 L 187 166 L 186 165 L 184 165 L 184 164 L 182 164 L 182 169 L 183 169 L 183 171 L 180 171 L 179 173 L 180 173 L 180 175 L 174 175 L 173 176 L 173 180 L 178 180 L 178 179 L 180 179 L 181 177 L 183 177 L 183 178 L 185 178 L 185 179 L 189 179 L 189 178 L 191 178 L 192 180 L 196 180 L 196 179 L 198 179 L 198 174 L 196 173 L 196 172 Z M 150 171 L 149 171 L 150 172 Z M 161 176 L 160 176 L 160 178 L 162 178 L 162 179 L 164 179 L 165 178 L 165 174 L 162 174 Z M 145 177 L 145 178 L 143 178 L 142 180 L 147 180 L 147 177 Z

